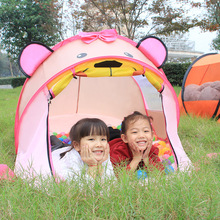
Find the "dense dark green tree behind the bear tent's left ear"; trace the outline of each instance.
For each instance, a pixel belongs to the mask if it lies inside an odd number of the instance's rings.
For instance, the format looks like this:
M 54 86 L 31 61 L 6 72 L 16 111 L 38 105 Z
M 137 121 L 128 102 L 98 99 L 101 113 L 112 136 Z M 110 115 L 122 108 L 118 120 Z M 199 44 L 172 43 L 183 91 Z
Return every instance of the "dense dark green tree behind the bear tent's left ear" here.
M 1 45 L 11 61 L 31 41 L 51 46 L 60 40 L 59 10 L 55 0 L 0 1 Z

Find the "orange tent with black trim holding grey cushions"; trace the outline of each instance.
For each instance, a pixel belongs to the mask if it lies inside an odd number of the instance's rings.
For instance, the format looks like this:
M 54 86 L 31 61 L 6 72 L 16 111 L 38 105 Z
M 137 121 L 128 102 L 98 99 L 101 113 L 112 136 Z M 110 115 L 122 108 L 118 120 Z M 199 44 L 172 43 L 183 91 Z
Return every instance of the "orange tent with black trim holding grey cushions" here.
M 209 117 L 220 122 L 220 54 L 202 55 L 189 66 L 178 102 L 180 114 Z

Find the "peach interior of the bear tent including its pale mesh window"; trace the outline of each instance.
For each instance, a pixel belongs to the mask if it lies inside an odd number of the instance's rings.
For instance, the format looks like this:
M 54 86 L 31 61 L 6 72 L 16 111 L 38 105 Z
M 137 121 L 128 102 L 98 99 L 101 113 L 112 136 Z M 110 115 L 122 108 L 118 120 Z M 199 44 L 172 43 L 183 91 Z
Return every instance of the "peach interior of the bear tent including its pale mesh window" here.
M 108 126 L 118 127 L 133 111 L 152 116 L 157 136 L 166 139 L 160 93 L 146 77 L 77 77 L 51 100 L 49 129 L 68 132 L 85 117 L 98 117 Z

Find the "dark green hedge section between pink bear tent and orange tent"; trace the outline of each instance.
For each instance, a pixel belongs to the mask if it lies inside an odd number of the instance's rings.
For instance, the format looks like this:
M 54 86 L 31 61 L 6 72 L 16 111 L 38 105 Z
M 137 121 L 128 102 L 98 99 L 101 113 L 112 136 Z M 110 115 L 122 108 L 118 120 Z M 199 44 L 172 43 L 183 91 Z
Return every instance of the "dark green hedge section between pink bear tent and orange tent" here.
M 183 77 L 191 63 L 166 63 L 163 71 L 169 82 L 174 86 L 181 86 Z

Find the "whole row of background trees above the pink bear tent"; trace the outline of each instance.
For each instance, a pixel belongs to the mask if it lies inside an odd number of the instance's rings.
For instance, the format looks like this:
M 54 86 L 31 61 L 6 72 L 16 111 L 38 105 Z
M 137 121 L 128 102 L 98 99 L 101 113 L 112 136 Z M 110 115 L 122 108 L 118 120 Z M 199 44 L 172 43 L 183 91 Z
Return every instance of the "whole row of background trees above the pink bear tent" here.
M 10 59 L 31 41 L 52 46 L 72 33 L 115 28 L 120 35 L 140 39 L 145 35 L 188 32 L 195 26 L 217 31 L 213 46 L 219 49 L 218 0 L 0 0 L 1 46 Z M 191 9 L 204 9 L 199 16 Z

